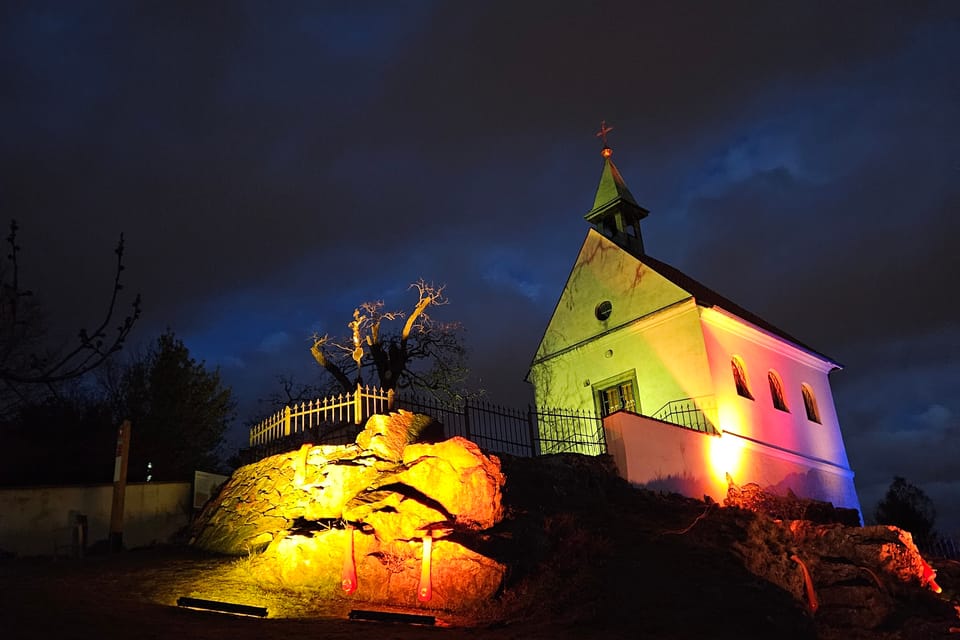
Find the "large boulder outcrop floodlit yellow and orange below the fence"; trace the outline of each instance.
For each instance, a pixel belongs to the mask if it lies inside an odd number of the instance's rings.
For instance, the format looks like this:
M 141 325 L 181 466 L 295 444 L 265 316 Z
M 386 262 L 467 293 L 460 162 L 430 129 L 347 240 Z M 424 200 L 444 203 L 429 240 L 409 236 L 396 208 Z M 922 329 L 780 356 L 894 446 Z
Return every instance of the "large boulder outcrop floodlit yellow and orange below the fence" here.
M 474 606 L 505 573 L 474 550 L 503 518 L 504 476 L 463 438 L 416 442 L 430 431 L 426 416 L 377 415 L 353 445 L 303 445 L 237 469 L 192 543 L 252 554 L 260 579 L 320 597 Z

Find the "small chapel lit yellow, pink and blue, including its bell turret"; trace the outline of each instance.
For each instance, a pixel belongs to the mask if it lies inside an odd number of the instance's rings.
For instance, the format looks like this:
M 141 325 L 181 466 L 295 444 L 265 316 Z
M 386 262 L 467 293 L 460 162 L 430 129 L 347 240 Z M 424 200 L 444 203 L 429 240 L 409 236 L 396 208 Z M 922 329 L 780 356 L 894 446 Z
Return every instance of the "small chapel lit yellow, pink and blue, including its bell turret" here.
M 537 406 L 596 411 L 637 486 L 722 502 L 728 482 L 757 483 L 859 510 L 830 390 L 840 365 L 648 255 L 649 212 L 602 156 L 591 227 L 527 375 Z

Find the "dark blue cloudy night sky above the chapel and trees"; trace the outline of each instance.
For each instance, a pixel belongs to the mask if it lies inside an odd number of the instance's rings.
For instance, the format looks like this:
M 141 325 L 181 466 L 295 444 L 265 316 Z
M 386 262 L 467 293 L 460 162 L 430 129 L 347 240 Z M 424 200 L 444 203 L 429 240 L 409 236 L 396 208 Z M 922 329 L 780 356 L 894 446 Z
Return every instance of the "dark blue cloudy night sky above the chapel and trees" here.
M 0 198 L 64 339 L 125 233 L 131 347 L 219 366 L 235 448 L 420 277 L 526 406 L 606 120 L 648 253 L 844 364 L 866 515 L 902 475 L 958 534 L 958 69 L 949 1 L 5 2 Z

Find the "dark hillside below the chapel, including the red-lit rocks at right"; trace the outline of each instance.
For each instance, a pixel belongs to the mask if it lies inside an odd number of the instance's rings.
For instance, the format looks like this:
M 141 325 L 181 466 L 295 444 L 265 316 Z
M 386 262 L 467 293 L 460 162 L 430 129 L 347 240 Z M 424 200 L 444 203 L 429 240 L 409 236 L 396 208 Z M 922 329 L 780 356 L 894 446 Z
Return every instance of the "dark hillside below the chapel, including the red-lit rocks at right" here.
M 604 457 L 503 468 L 512 557 L 497 619 L 568 619 L 593 637 L 960 633 L 960 565 L 928 563 L 896 527 L 843 524 L 849 510 L 755 486 L 731 486 L 729 506 L 633 489 Z

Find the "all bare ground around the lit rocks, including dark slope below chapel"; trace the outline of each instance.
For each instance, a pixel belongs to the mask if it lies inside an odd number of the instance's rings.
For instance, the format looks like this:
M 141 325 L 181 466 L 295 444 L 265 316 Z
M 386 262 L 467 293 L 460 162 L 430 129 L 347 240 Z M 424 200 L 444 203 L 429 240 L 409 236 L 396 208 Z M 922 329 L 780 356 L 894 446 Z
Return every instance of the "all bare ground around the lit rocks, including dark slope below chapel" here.
M 926 600 L 907 603 L 882 628 L 825 626 L 827 607 L 813 615 L 802 597 L 747 570 L 737 547 L 764 540 L 747 540 L 744 512 L 634 491 L 589 469 L 545 473 L 525 463 L 511 467 L 508 477 L 508 526 L 496 532 L 497 551 L 509 567 L 504 588 L 479 610 L 420 612 L 435 616 L 437 626 L 351 620 L 353 610 L 379 607 L 347 596 L 329 602 L 305 590 L 268 589 L 251 579 L 247 558 L 171 545 L 71 559 L 0 558 L 0 638 L 960 637 L 951 631 L 960 627 L 952 609 L 943 605 L 938 611 L 946 607 L 948 615 L 931 617 Z M 956 599 L 960 564 L 935 566 L 944 595 Z M 268 616 L 184 609 L 177 606 L 181 597 L 266 607 Z

